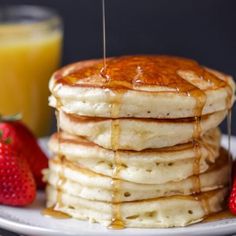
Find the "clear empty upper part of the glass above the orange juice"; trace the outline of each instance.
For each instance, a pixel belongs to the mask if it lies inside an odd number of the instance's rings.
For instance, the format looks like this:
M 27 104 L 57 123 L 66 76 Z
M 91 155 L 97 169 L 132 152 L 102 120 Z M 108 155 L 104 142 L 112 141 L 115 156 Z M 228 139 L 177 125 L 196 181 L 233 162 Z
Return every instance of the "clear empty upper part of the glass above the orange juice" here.
M 50 7 L 20 4 L 0 8 L 0 25 L 42 24 L 52 20 L 62 23 L 58 12 Z

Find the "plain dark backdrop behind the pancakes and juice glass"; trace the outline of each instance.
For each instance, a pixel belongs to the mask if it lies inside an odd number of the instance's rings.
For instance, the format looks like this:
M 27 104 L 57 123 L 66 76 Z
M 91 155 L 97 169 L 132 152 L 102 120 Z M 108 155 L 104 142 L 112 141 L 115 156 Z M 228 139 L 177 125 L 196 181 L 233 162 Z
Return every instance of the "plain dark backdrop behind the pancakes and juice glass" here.
M 65 26 L 63 64 L 102 56 L 101 0 L 0 0 L 0 7 L 10 4 L 58 11 Z M 106 12 L 108 56 L 173 54 L 236 78 L 235 0 L 106 0 Z

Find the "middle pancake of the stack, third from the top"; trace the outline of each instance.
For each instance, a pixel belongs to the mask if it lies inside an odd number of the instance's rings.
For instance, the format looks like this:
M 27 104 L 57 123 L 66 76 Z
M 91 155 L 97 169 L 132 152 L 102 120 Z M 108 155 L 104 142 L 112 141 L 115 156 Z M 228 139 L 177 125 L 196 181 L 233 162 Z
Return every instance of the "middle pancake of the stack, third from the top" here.
M 203 136 L 197 150 L 189 143 L 141 152 L 119 151 L 119 176 L 123 180 L 144 184 L 182 180 L 196 172 L 206 171 L 218 158 L 219 147 L 220 132 L 214 129 Z M 113 176 L 116 154 L 112 150 L 65 133 L 60 135 L 60 145 L 58 135 L 52 136 L 49 149 L 56 155 L 60 152 L 66 159 L 95 173 Z M 194 169 L 196 160 L 199 166 Z

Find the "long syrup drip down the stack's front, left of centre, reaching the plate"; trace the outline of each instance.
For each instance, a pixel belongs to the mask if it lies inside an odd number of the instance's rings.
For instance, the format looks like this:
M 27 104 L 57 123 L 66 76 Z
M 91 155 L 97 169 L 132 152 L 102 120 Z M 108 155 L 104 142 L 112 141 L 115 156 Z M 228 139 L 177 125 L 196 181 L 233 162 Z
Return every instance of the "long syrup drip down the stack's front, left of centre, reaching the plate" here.
M 116 100 L 112 104 L 112 117 L 117 117 L 120 111 L 120 104 L 122 99 L 122 92 L 116 94 Z M 114 150 L 114 169 L 112 175 L 112 220 L 109 228 L 123 229 L 125 227 L 122 221 L 120 202 L 121 202 L 121 179 L 120 171 L 122 163 L 119 155 L 119 138 L 120 138 L 120 124 L 119 119 L 111 120 L 111 146 Z

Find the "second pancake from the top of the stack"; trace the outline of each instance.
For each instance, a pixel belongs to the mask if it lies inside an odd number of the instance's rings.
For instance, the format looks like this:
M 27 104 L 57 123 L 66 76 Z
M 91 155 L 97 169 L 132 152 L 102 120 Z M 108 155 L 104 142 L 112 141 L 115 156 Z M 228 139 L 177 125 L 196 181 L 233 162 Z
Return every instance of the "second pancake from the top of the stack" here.
M 59 112 L 60 128 L 72 135 L 84 136 L 104 148 L 114 149 L 114 126 L 119 127 L 116 149 L 140 151 L 188 143 L 195 136 L 217 127 L 227 111 L 195 119 L 92 119 Z M 199 125 L 199 127 L 197 126 Z M 132 141 L 131 141 L 132 140 Z

